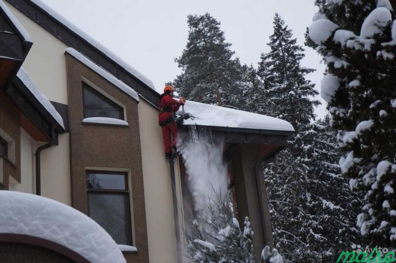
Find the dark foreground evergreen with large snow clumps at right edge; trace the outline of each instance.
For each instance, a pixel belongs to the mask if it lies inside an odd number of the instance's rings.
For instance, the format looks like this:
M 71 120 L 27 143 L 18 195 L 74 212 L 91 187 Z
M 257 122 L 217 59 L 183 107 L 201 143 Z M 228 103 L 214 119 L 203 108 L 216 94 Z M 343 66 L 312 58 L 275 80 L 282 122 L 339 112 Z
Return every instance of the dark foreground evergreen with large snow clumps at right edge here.
M 321 95 L 339 131 L 341 171 L 352 190 L 365 194 L 357 225 L 368 242 L 395 248 L 396 6 L 388 0 L 316 5 L 307 43 L 327 63 Z

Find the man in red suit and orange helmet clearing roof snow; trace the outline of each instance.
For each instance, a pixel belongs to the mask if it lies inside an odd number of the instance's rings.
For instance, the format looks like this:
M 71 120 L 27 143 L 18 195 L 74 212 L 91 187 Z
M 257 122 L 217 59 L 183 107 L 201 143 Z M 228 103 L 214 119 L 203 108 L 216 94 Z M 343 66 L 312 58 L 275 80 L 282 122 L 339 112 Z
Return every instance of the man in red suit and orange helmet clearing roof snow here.
M 179 101 L 173 99 L 174 91 L 175 89 L 170 85 L 164 88 L 164 93 L 161 95 L 160 115 L 158 116 L 158 123 L 162 127 L 162 137 L 164 138 L 165 158 L 171 158 L 172 147 L 177 152 L 176 140 L 178 133 L 174 115 L 180 106 L 186 102 L 184 98 Z

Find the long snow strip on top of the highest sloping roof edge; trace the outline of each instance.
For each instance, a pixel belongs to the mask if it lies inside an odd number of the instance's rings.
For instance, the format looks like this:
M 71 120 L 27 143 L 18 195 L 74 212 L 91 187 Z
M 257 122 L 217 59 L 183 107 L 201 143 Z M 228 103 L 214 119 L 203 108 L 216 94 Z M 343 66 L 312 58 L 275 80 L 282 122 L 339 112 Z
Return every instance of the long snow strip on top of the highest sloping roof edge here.
M 76 33 L 78 36 L 82 37 L 84 40 L 86 40 L 88 43 L 93 45 L 95 48 L 98 50 L 102 51 L 107 57 L 112 59 L 114 62 L 116 62 L 118 65 L 123 67 L 126 71 L 131 73 L 133 76 L 141 80 L 143 83 L 145 83 L 147 86 L 149 86 L 152 90 L 155 91 L 154 84 L 153 82 L 147 78 L 145 75 L 143 75 L 141 72 L 139 72 L 137 69 L 126 63 L 122 58 L 118 57 L 118 55 L 114 54 L 112 51 L 107 49 L 105 46 L 97 42 L 95 39 L 93 39 L 91 36 L 86 34 L 83 30 L 81 30 L 79 27 L 71 23 L 69 20 L 67 20 L 65 17 L 57 13 L 57 11 L 53 10 L 50 8 L 47 4 L 44 4 L 41 0 L 30 0 L 40 8 L 42 8 L 44 11 L 46 11 L 49 15 L 51 15 L 54 19 L 59 21 L 61 24 L 65 25 L 68 29 L 72 30 L 74 33 Z

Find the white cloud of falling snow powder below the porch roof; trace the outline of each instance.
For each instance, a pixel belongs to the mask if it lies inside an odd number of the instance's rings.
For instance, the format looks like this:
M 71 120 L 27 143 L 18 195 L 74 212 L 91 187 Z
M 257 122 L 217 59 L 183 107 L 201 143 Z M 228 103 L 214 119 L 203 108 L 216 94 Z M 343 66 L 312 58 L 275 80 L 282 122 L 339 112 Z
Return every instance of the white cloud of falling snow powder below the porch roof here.
M 192 126 L 190 133 L 181 135 L 179 149 L 185 162 L 195 212 L 204 215 L 209 198 L 215 200 L 213 189 L 221 191 L 224 198 L 227 196 L 228 176 L 223 162 L 223 145 L 214 143 L 210 132 L 198 134 L 196 127 Z

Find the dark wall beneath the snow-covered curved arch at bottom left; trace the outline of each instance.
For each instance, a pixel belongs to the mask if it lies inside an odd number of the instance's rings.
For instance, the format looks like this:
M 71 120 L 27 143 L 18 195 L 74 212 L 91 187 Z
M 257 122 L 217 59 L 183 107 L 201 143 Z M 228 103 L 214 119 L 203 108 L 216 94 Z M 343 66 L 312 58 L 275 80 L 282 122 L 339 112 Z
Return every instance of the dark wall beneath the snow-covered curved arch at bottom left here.
M 57 252 L 26 244 L 0 244 L 0 262 L 75 263 L 75 261 Z

